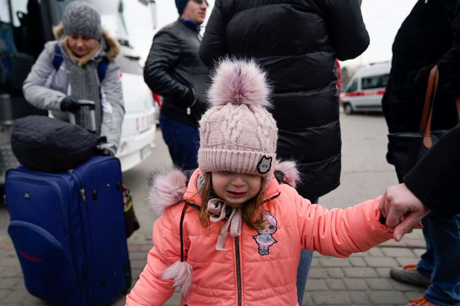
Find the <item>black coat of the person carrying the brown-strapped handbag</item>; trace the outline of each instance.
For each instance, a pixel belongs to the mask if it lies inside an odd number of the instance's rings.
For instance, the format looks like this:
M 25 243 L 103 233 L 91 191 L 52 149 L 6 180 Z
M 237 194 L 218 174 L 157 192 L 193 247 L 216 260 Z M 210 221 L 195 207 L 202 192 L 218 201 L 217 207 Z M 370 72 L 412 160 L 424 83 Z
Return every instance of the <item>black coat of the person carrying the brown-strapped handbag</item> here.
M 459 3 L 419 0 L 401 25 L 393 43 L 391 72 L 382 99 L 390 133 L 419 131 L 428 75 L 435 64 L 439 85 L 431 129 L 457 124 L 454 95 L 460 93 Z

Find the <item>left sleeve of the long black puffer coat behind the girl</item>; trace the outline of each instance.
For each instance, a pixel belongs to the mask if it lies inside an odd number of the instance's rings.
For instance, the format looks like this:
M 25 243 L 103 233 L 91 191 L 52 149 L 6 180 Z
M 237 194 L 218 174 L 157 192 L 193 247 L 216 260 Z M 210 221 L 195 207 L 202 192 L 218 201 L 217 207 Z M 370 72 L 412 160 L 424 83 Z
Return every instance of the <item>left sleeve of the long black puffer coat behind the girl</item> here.
M 206 32 L 200 44 L 200 59 L 209 68 L 214 67 L 214 63 L 221 56 L 227 55 L 227 45 L 225 45 L 226 18 L 222 13 L 220 0 L 216 0 L 213 11 L 206 25 Z

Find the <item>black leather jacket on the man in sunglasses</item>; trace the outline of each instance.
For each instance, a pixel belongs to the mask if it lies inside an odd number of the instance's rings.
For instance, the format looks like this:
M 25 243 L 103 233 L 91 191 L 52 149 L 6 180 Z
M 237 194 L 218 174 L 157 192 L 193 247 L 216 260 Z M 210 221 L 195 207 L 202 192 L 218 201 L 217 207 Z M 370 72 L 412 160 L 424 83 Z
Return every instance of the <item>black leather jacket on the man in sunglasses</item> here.
M 200 38 L 196 27 L 179 17 L 155 34 L 144 68 L 145 83 L 164 98 L 161 113 L 194 128 L 206 110 L 203 94 L 209 80 L 208 69 L 198 57 Z M 189 115 L 187 107 L 194 100 L 191 87 L 198 99 Z

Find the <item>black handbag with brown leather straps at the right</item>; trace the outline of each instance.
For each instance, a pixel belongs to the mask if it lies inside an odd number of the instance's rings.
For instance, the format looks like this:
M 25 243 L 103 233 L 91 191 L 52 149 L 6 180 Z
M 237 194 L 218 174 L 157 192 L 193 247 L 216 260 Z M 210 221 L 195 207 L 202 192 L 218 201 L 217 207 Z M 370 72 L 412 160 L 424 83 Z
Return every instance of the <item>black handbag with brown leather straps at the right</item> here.
M 396 168 L 400 183 L 403 177 L 426 154 L 432 145 L 436 144 L 449 129 L 431 131 L 431 116 L 433 101 L 436 95 L 438 81 L 437 65 L 430 71 L 426 87 L 425 103 L 420 121 L 420 132 L 390 133 L 388 134 L 388 160 Z M 455 99 L 460 121 L 460 98 Z

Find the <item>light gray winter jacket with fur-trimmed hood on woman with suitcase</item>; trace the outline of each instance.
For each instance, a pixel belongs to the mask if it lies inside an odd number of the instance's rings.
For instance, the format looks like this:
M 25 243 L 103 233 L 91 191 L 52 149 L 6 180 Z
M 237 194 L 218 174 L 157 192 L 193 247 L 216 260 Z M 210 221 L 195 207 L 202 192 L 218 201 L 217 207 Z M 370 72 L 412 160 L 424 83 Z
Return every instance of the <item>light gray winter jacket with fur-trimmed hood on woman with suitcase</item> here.
M 45 48 L 23 83 L 23 93 L 30 104 L 48 110 L 50 117 L 69 121 L 69 113 L 60 109 L 61 100 L 70 92 L 69 70 L 65 67 L 65 61 L 57 71 L 52 64 L 57 43 L 58 41 L 54 40 L 45 44 Z M 101 136 L 107 137 L 108 144 L 115 148 L 120 144 L 121 123 L 125 114 L 120 69 L 113 61 L 119 52 L 115 40 L 103 31 L 100 49 L 94 55 L 94 57 L 107 56 L 110 60 L 102 84 L 99 84 L 103 114 Z M 61 53 L 62 56 L 68 56 L 64 48 L 61 48 Z

